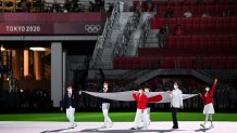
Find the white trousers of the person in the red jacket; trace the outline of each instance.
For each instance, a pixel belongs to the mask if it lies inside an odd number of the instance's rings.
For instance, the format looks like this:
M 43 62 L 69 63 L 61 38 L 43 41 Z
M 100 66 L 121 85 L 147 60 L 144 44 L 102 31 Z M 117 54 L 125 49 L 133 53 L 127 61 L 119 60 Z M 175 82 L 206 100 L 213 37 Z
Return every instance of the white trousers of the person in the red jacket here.
M 144 110 L 144 112 L 142 112 L 142 110 Z M 137 109 L 136 117 L 134 120 L 134 128 L 135 129 L 137 129 L 139 127 L 139 123 L 141 122 L 141 120 L 144 121 L 142 127 L 147 128 L 148 122 L 149 122 L 147 109 Z

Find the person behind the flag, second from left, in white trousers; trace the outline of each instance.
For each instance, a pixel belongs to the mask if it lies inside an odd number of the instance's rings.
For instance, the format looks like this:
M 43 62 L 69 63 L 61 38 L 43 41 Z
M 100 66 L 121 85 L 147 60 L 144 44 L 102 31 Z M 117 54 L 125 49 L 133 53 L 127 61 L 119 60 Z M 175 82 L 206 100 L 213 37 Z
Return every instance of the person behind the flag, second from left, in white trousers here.
M 103 82 L 103 90 L 101 90 L 102 93 L 108 93 L 111 92 L 109 90 L 109 83 L 108 82 Z M 103 112 L 103 117 L 104 117 L 104 123 L 101 128 L 112 128 L 113 127 L 113 122 L 111 121 L 110 117 L 109 117 L 109 109 L 110 109 L 110 101 L 102 98 L 101 99 L 102 103 L 102 112 Z

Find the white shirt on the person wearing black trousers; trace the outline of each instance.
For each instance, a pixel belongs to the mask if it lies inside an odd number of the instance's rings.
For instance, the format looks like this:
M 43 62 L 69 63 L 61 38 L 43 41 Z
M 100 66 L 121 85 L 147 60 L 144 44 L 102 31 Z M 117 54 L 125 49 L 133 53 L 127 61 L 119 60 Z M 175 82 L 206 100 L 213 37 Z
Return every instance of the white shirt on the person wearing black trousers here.
M 175 89 L 171 92 L 171 107 L 180 108 L 183 106 L 183 92 L 179 89 Z

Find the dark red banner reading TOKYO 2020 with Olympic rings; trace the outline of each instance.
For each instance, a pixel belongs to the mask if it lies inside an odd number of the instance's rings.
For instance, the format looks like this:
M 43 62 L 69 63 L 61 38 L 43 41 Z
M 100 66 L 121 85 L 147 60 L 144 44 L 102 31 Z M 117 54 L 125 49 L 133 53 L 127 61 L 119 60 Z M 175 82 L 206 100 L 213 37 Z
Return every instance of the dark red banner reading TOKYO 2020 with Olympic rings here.
M 2 13 L 0 35 L 101 35 L 109 14 Z

